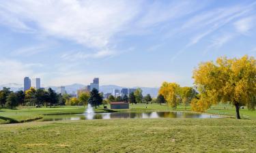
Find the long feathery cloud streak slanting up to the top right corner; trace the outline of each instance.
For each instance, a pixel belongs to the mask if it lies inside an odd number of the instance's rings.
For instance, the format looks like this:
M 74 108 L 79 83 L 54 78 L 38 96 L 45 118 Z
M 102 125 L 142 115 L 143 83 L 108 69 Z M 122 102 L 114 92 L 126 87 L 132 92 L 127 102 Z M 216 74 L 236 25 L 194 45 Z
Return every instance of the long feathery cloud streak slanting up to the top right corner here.
M 214 31 L 217 31 L 221 27 L 224 27 L 231 21 L 242 18 L 245 14 L 251 12 L 255 5 L 256 2 L 245 6 L 235 5 L 221 9 L 218 8 L 216 10 L 203 12 L 193 18 L 190 18 L 190 20 L 184 23 L 181 29 L 182 31 L 185 31 L 186 29 L 189 29 L 189 31 L 196 31 L 195 36 L 190 39 L 188 46 L 197 44 L 201 39 L 210 35 Z

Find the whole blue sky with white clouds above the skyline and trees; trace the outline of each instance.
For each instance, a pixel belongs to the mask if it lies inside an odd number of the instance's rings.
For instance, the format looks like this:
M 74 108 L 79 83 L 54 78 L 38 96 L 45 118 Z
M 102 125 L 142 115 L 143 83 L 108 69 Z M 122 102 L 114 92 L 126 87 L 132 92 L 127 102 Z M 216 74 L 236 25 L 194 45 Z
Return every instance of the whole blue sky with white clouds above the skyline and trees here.
M 0 84 L 193 86 L 201 62 L 256 55 L 256 1 L 0 0 Z

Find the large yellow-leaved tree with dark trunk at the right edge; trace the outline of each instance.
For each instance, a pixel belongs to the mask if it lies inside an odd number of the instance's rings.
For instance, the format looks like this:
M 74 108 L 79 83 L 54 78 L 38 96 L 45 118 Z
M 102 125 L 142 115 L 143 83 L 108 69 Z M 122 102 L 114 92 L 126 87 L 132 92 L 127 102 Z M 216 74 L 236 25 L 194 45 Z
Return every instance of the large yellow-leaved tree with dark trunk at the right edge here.
M 191 102 L 194 111 L 203 112 L 220 102 L 231 103 L 236 106 L 236 117 L 240 119 L 240 106 L 255 109 L 256 61 L 253 56 L 221 57 L 215 63 L 201 63 L 194 70 L 193 79 L 200 92 L 200 98 Z

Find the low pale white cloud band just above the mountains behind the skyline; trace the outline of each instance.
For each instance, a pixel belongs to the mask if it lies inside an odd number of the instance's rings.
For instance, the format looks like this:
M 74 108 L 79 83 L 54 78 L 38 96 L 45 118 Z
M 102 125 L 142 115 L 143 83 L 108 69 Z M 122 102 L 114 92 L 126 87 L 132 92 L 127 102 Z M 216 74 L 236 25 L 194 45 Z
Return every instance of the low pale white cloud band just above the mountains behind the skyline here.
M 55 86 L 73 84 L 74 82 L 89 84 L 91 79 L 95 77 L 100 78 L 101 85 L 116 84 L 127 87 L 156 87 L 160 86 L 164 81 L 183 83 L 182 86 L 192 85 L 192 83 L 187 82 L 186 78 L 182 76 L 162 71 L 137 71 L 124 73 L 76 73 L 75 71 L 72 71 L 65 75 L 61 75 L 58 78 L 51 79 L 49 84 Z

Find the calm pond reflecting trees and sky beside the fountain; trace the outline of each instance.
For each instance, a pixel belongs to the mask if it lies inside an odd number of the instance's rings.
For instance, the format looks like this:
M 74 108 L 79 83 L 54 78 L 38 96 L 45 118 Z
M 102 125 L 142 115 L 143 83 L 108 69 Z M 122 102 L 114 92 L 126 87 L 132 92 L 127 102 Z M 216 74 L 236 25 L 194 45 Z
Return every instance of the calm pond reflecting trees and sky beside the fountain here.
M 190 112 L 111 112 L 94 114 L 48 115 L 40 121 L 56 120 L 94 120 L 115 118 L 220 118 L 210 114 L 195 114 Z

